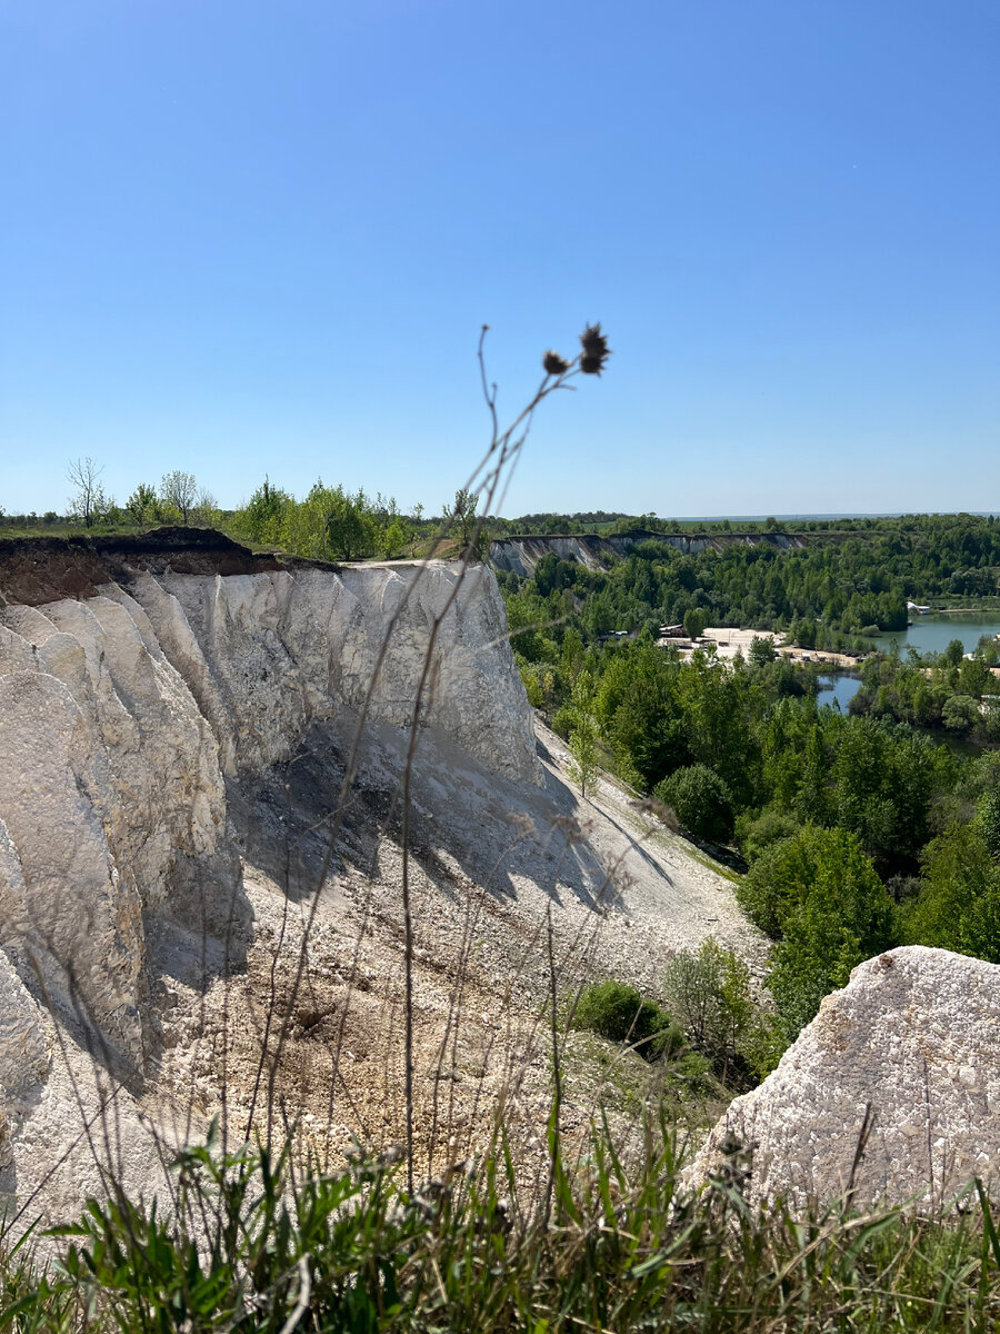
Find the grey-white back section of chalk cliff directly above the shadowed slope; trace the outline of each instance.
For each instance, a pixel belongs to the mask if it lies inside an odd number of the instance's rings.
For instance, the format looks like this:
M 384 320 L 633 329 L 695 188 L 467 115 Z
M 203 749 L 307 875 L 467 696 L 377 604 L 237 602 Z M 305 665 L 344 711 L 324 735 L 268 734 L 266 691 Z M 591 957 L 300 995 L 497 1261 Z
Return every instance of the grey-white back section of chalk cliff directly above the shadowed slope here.
M 483 566 L 147 575 L 129 591 L 209 720 L 227 774 L 287 759 L 341 704 L 368 702 L 373 720 L 408 727 L 429 651 L 421 723 L 488 768 L 540 779 L 503 599 Z

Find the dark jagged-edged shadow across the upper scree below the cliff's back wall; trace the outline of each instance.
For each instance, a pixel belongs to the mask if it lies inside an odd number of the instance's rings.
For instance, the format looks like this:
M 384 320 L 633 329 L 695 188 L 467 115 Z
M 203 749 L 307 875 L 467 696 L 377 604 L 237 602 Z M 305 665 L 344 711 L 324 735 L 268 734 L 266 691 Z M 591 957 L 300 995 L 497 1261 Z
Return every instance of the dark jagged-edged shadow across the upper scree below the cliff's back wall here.
M 392 879 L 391 850 L 401 854 L 405 736 L 369 724 L 365 762 L 344 802 L 336 844 L 333 814 L 344 774 L 345 723 L 319 724 L 296 755 L 263 775 L 228 786 L 229 816 L 245 859 L 293 902 L 316 892 L 324 863 L 328 887 L 353 870 Z M 440 735 L 425 735 L 412 778 L 409 855 L 443 900 L 464 903 L 471 886 L 499 903 L 524 898 L 525 884 L 556 906 L 569 896 L 608 911 L 620 894 L 587 843 L 576 800 L 553 774 L 544 790 L 488 774 Z

